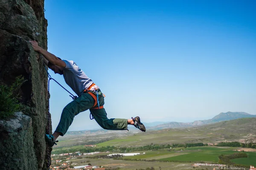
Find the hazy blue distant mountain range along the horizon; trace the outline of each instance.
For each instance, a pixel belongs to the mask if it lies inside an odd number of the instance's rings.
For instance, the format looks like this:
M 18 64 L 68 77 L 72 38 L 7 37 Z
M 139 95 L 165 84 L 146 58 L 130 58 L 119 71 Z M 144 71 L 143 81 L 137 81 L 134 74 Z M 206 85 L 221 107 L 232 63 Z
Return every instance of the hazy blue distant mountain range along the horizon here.
M 216 122 L 221 122 L 225 120 L 233 120 L 239 118 L 250 118 L 256 117 L 256 115 L 252 115 L 245 112 L 227 112 L 227 113 L 219 113 L 217 116 L 214 116 L 212 119 L 208 120 L 197 120 L 190 123 L 180 123 L 180 122 L 169 122 L 164 123 L 157 126 L 147 127 L 148 130 L 160 130 L 160 129 L 167 129 L 167 128 L 184 128 L 184 127 L 193 127 L 193 126 L 201 126 L 212 124 Z

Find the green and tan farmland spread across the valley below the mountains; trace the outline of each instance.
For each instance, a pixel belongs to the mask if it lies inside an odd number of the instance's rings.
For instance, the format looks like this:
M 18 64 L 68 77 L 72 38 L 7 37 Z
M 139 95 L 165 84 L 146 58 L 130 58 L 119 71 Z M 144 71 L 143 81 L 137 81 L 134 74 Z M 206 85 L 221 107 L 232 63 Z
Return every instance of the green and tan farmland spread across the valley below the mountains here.
M 253 143 L 256 137 L 254 123 L 255 119 L 237 119 L 201 127 L 148 130 L 146 133 L 131 131 L 112 133 L 110 131 L 105 134 L 104 131 L 101 131 L 99 135 L 97 135 L 97 132 L 87 134 L 87 136 L 75 136 L 76 134 L 72 134 L 72 138 L 66 137 L 60 140 L 61 147 L 53 147 L 52 153 L 60 154 L 80 151 L 82 155 L 79 159 L 76 159 L 77 156 L 70 157 L 74 164 L 82 165 L 84 162 L 90 162 L 93 165 L 111 168 L 119 167 L 124 170 L 146 169 L 147 167 L 154 167 L 155 170 L 185 170 L 194 169 L 193 164 L 195 163 L 204 165 L 197 164 L 195 166 L 200 167 L 196 168 L 212 169 L 218 166 L 210 166 L 209 164 L 218 164 L 219 156 L 221 155 L 246 153 L 247 157 L 230 159 L 230 161 L 247 167 L 249 165 L 255 166 L 256 152 L 247 152 L 253 150 L 252 148 L 217 147 L 214 145 L 220 142 L 233 141 Z M 88 141 L 95 144 L 96 147 L 84 147 L 84 144 L 87 144 Z M 204 146 L 189 147 L 184 145 L 189 143 L 203 143 Z M 173 144 L 180 146 L 175 145 L 173 147 Z M 206 144 L 211 146 L 205 146 Z M 239 152 L 238 150 L 244 150 L 244 152 Z M 101 153 L 83 155 L 83 153 L 95 151 Z M 109 153 L 106 153 L 106 151 L 109 151 Z M 107 157 L 110 153 L 138 152 L 140 155 L 136 156 Z M 55 159 L 61 158 L 56 157 Z M 206 163 L 208 165 L 205 165 Z

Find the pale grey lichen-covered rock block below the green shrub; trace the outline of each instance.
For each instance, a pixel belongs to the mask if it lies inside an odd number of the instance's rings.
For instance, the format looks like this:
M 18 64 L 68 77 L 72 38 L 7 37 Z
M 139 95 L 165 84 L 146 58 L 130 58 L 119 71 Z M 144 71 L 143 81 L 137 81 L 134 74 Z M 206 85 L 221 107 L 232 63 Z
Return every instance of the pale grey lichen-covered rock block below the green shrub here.
M 0 120 L 0 147 L 11 150 L 0 152 L 1 169 L 36 170 L 37 161 L 33 143 L 32 119 L 15 113 L 15 119 Z M 29 159 L 28 159 L 29 158 Z

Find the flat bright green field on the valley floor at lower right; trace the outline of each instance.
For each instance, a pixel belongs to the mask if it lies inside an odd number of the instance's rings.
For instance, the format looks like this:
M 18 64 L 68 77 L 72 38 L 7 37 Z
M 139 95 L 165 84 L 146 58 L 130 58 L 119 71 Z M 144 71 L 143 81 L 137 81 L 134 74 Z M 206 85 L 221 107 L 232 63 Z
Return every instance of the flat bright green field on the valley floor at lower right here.
M 233 147 L 190 147 L 183 150 L 168 151 L 140 151 L 145 154 L 137 156 L 127 156 L 125 159 L 145 159 L 145 160 L 159 160 L 159 161 L 178 161 L 178 162 L 206 162 L 218 163 L 218 156 L 221 154 L 230 155 L 238 153 Z M 245 152 L 248 158 L 233 159 L 237 164 L 251 165 L 256 163 L 256 153 Z

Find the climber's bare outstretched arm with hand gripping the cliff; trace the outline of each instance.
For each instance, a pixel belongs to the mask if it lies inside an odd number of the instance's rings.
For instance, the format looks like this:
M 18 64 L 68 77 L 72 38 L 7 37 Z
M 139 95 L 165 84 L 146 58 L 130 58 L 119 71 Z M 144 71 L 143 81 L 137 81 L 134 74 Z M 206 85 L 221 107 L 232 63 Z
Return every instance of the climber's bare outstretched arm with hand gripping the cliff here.
M 58 65 L 59 67 L 62 67 L 62 68 L 66 67 L 66 63 L 64 61 L 62 61 L 61 59 L 58 59 L 54 54 L 49 53 L 44 48 L 41 48 L 36 41 L 29 41 L 29 42 L 32 44 L 32 47 L 34 48 L 34 50 L 41 53 L 47 61 L 51 62 L 54 65 Z M 48 65 L 48 62 L 47 62 L 47 65 Z

